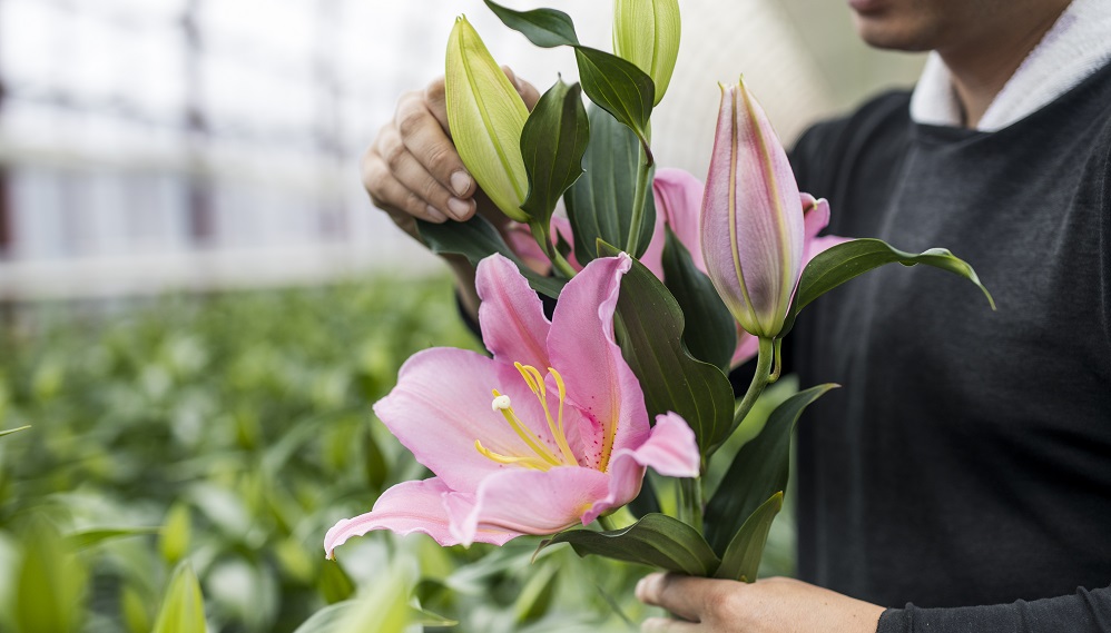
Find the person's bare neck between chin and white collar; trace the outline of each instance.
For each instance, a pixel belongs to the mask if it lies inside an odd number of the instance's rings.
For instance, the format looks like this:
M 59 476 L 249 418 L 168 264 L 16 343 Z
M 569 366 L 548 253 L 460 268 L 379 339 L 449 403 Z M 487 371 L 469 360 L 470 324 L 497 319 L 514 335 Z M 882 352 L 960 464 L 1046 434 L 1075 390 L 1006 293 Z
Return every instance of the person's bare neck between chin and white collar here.
M 980 123 L 995 96 L 1042 41 L 1069 2 L 1059 4 L 1055 10 L 1048 10 L 1022 24 L 996 30 L 991 39 L 961 48 L 937 50 L 953 77 L 953 89 L 961 105 L 964 127 L 975 128 Z

